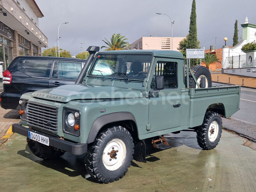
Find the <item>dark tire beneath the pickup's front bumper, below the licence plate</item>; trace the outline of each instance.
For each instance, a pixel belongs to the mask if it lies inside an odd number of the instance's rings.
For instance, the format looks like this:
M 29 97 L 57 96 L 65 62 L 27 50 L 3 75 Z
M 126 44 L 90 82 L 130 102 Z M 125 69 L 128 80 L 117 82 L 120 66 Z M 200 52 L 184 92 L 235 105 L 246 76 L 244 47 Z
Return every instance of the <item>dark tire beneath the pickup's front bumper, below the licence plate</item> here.
M 47 146 L 37 141 L 27 138 L 28 148 L 30 151 L 37 157 L 42 159 L 55 159 L 62 155 L 65 152 L 62 152 L 60 149 L 57 151 L 52 146 Z

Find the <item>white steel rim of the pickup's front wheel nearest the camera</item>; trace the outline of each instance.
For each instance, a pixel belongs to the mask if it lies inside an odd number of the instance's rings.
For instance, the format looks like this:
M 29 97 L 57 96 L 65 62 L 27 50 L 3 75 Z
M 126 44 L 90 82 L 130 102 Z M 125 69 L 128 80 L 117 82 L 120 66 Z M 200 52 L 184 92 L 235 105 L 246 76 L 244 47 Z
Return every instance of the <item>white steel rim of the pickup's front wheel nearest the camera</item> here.
M 126 146 L 124 141 L 113 139 L 104 148 L 102 160 L 109 171 L 115 171 L 124 163 L 126 157 Z

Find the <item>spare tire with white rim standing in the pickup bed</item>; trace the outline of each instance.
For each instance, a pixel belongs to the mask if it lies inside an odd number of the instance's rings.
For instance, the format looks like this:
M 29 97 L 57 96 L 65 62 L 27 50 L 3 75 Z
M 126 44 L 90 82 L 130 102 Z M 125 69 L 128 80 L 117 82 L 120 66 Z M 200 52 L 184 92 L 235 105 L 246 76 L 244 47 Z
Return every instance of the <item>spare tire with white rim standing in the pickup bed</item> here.
M 212 76 L 207 67 L 197 65 L 191 68 L 191 71 L 194 73 L 198 84 L 201 87 L 201 79 L 205 77 L 205 88 L 212 87 Z M 196 82 L 194 81 L 192 75 L 189 75 L 189 88 L 198 88 Z

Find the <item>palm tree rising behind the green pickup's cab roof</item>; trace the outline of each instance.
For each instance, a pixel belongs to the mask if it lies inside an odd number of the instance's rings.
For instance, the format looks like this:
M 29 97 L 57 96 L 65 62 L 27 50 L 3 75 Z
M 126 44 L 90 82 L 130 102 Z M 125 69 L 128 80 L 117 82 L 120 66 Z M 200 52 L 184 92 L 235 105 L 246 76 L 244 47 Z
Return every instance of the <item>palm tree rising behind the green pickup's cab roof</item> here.
M 124 36 L 120 35 L 120 33 L 118 34 L 114 33 L 110 38 L 111 42 L 109 42 L 107 39 L 106 41 L 102 40 L 104 41 L 104 43 L 108 45 L 108 47 L 102 46 L 100 47 L 100 49 L 102 49 L 103 47 L 106 48 L 105 51 L 129 49 L 129 46 L 132 46 L 132 45 L 129 44 L 128 42 L 125 42 L 125 40 L 128 40 L 128 39 L 124 38 Z

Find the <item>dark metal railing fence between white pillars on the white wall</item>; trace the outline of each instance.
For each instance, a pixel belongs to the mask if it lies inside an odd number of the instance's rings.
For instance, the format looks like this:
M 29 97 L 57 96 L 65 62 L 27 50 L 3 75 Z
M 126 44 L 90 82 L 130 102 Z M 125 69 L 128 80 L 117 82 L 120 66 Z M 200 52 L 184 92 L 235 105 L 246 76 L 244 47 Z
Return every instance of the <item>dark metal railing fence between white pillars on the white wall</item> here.
M 246 67 L 246 54 L 227 57 L 223 65 L 224 69 L 245 68 L 245 67 Z

